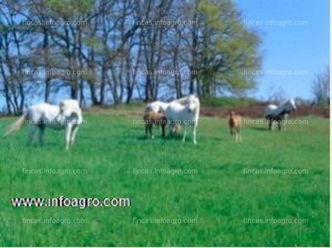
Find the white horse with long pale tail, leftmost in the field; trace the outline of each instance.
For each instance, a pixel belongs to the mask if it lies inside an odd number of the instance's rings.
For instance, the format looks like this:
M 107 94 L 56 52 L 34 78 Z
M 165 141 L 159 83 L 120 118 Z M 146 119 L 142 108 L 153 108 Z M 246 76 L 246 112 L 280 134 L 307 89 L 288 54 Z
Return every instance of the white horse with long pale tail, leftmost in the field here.
M 33 142 L 36 129 L 39 127 L 39 141 L 42 145 L 45 127 L 64 129 L 66 134 L 66 150 L 73 145 L 78 126 L 82 123 L 82 110 L 76 100 L 63 100 L 59 106 L 39 103 L 28 108 L 20 119 L 11 124 L 5 135 L 18 131 L 23 124 L 30 124 L 28 144 Z

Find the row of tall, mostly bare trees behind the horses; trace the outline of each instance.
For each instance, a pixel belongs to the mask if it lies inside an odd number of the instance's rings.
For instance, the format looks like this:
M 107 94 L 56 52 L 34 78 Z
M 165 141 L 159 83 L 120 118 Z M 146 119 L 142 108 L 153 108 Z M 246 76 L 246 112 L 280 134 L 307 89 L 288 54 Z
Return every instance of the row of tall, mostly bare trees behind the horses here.
M 230 0 L 3 0 L 0 94 L 18 114 L 59 94 L 104 105 L 242 92 L 259 44 Z

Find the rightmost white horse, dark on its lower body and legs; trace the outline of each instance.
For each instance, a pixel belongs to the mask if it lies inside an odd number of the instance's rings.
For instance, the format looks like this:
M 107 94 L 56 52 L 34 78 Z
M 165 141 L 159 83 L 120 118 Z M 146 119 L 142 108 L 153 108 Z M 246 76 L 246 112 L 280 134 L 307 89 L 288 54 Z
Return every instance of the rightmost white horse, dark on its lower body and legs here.
M 274 121 L 278 122 L 278 128 L 281 130 L 281 121 L 284 117 L 287 117 L 291 111 L 296 111 L 295 100 L 290 99 L 284 102 L 282 105 L 277 106 L 270 104 L 265 108 L 265 118 L 268 120 L 269 129 L 272 130 L 272 124 Z

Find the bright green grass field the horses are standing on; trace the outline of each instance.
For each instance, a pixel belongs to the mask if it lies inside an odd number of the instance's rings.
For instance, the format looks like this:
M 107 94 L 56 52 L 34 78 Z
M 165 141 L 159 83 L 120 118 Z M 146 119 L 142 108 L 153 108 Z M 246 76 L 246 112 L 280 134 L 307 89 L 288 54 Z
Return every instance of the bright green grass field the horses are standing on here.
M 329 246 L 329 120 L 308 118 L 269 132 L 243 127 L 230 139 L 226 119 L 201 117 L 198 144 L 142 138 L 133 118 L 85 114 L 77 142 L 46 130 L 26 147 L 27 127 L 1 139 L 1 246 Z M 14 118 L 1 118 L 3 131 Z M 191 138 L 191 137 L 190 137 Z M 87 174 L 24 174 L 22 169 L 86 169 Z M 194 169 L 197 174 L 133 174 L 133 169 Z M 244 174 L 244 169 L 306 169 L 307 174 Z M 13 207 L 11 197 L 129 197 L 130 207 Z M 197 219 L 197 223 L 133 223 Z M 86 219 L 87 223 L 23 223 Z M 307 219 L 308 223 L 244 223 Z

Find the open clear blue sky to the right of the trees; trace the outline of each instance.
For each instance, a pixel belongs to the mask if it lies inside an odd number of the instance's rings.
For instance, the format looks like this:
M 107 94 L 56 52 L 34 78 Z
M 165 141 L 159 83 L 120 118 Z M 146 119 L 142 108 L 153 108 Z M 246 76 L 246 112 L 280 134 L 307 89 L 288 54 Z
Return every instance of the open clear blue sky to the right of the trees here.
M 252 26 L 262 38 L 262 67 L 307 70 L 307 75 L 258 75 L 254 96 L 267 98 L 282 90 L 285 97 L 310 99 L 311 79 L 329 65 L 329 0 L 235 0 L 248 21 L 307 21 L 307 25 Z

